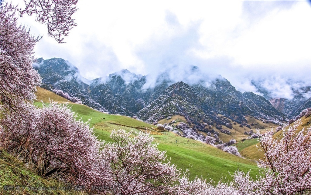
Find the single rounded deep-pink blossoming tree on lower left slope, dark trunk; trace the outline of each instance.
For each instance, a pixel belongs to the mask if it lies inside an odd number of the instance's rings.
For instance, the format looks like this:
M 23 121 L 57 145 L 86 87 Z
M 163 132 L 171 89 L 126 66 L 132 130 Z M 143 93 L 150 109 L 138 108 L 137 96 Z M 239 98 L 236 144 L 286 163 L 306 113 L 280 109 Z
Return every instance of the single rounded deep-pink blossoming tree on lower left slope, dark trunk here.
M 93 161 L 101 143 L 87 123 L 76 120 L 66 104 L 51 103 L 40 109 L 35 131 L 32 132 L 32 162 L 40 175 L 62 176 L 72 183 L 83 183 L 100 177 Z M 88 171 L 89 172 L 88 172 Z M 72 181 L 71 181 L 72 179 Z M 87 182 L 87 183 L 85 183 Z

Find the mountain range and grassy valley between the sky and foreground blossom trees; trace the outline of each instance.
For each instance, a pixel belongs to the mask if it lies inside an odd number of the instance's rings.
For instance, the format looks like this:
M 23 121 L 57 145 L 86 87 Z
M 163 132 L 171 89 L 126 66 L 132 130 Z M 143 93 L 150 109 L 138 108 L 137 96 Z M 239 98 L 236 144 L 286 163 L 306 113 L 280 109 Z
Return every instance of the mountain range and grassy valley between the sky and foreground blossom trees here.
M 153 86 L 146 87 L 147 76 L 128 70 L 87 80 L 75 66 L 58 58 L 39 59 L 34 68 L 42 77 L 41 87 L 50 91 L 38 88 L 38 101 L 49 102 L 53 97 L 58 102 L 76 103 L 70 104 L 72 110 L 84 120 L 91 119 L 96 136 L 102 140 L 109 141 L 113 129 L 146 131 L 160 143 L 160 150 L 167 151 L 172 162 L 190 170 L 192 178 L 203 175 L 219 181 L 219 170 L 226 177 L 228 171 L 237 168 L 252 170 L 250 174 L 255 176 L 255 161 L 264 157 L 256 147 L 258 135 L 280 129 L 296 116 L 294 113 L 311 107 L 310 98 L 305 98 L 310 87 L 296 90 L 292 100 L 269 101 L 253 92 L 237 91 L 221 76 L 189 85 L 172 83 L 161 75 Z M 264 96 L 269 97 L 267 92 Z M 302 126 L 308 126 L 309 121 L 310 117 L 305 118 Z M 207 136 L 212 143 L 208 143 Z M 237 147 L 238 151 L 229 153 L 243 158 L 221 151 L 224 146 Z

